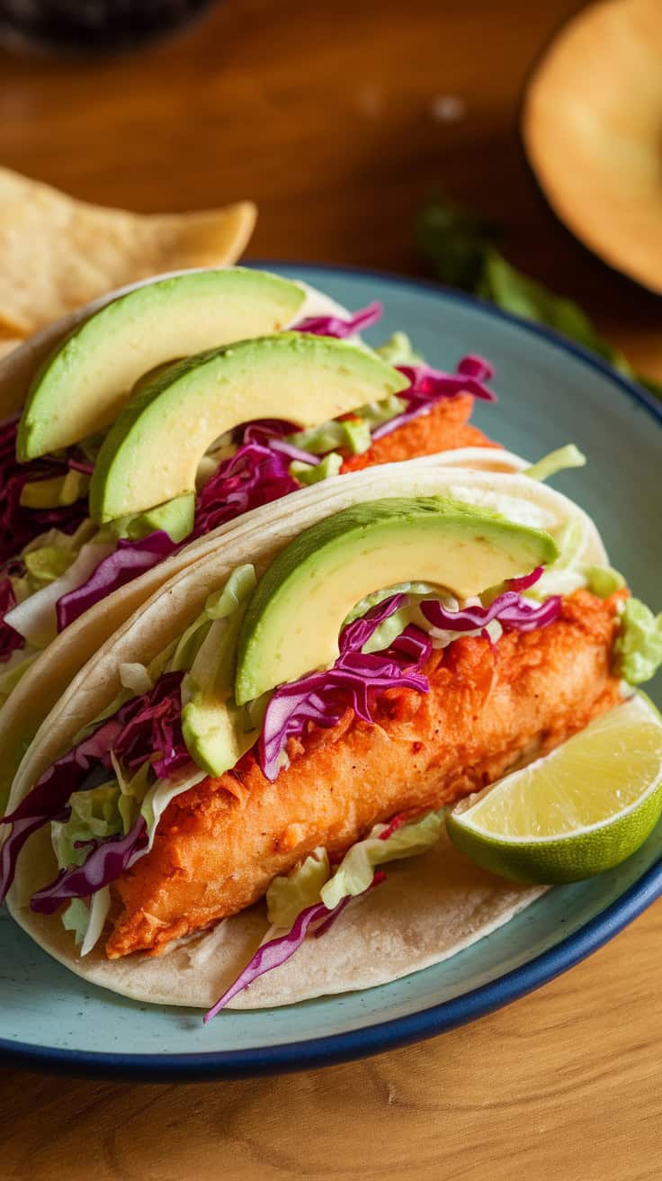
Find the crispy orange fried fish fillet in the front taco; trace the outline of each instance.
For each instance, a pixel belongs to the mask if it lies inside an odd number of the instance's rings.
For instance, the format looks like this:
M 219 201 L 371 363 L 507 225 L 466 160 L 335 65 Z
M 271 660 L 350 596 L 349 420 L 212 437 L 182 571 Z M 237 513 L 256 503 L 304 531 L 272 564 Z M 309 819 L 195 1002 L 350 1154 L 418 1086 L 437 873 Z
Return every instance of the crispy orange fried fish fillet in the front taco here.
M 109 958 L 159 954 L 255 902 L 317 846 L 342 854 L 378 821 L 453 803 L 582 730 L 620 700 L 618 598 L 577 590 L 545 628 L 494 646 L 463 637 L 432 653 L 428 693 L 384 694 L 375 725 L 347 710 L 290 739 L 275 783 L 249 752 L 178 796 L 151 853 L 112 887 Z

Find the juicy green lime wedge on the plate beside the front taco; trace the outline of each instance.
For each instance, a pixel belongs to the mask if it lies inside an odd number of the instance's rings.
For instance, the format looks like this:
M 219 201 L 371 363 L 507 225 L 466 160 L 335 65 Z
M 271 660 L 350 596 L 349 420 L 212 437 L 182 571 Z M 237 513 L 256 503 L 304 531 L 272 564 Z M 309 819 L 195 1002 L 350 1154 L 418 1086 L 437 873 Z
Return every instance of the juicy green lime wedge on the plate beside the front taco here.
M 629 857 L 662 813 L 662 717 L 637 693 L 457 804 L 453 843 L 503 877 L 571 882 Z

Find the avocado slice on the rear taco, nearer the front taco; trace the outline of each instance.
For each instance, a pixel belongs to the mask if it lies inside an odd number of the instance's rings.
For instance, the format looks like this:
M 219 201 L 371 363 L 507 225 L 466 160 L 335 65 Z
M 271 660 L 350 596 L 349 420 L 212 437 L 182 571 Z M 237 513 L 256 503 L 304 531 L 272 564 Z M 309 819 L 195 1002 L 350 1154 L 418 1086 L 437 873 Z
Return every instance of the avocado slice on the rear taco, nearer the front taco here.
M 189 357 L 126 403 L 97 458 L 90 514 L 110 521 L 191 491 L 205 451 L 240 423 L 288 418 L 313 426 L 407 385 L 374 353 L 302 332 Z

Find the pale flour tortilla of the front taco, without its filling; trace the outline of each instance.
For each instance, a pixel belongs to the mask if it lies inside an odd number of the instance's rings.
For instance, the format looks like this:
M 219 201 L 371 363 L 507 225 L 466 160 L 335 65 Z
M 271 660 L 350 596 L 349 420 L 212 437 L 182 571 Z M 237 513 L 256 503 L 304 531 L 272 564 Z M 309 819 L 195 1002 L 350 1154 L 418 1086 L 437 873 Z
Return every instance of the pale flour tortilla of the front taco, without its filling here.
M 202 539 L 197 559 L 160 586 L 73 678 L 22 759 L 9 808 L 17 807 L 51 763 L 71 748 L 79 730 L 113 700 L 123 663 L 149 664 L 192 622 L 208 595 L 224 585 L 234 568 L 250 561 L 260 575 L 303 529 L 350 504 L 379 496 L 452 496 L 498 508 L 510 520 L 546 528 L 552 535 L 581 517 L 588 539 L 585 560 L 607 560 L 595 527 L 559 492 L 519 474 L 445 466 L 443 459 L 426 457 L 335 477 L 294 494 L 284 507 L 276 502 L 251 513 L 227 527 L 222 536 Z M 51 659 L 52 648 L 45 657 Z M 144 1001 L 207 1006 L 250 958 L 267 929 L 263 912 L 254 907 L 157 959 L 132 957 L 109 963 L 99 951 L 81 959 L 57 915 L 42 918 L 30 911 L 30 896 L 52 880 L 55 870 L 48 833 L 42 830 L 31 839 L 19 860 L 8 899 L 13 916 L 72 971 Z M 387 885 L 352 903 L 329 935 L 310 940 L 290 965 L 271 972 L 248 997 L 238 998 L 237 1005 L 290 1004 L 406 976 L 468 946 L 540 893 L 485 874 L 446 842 L 422 857 L 392 867 L 388 877 Z

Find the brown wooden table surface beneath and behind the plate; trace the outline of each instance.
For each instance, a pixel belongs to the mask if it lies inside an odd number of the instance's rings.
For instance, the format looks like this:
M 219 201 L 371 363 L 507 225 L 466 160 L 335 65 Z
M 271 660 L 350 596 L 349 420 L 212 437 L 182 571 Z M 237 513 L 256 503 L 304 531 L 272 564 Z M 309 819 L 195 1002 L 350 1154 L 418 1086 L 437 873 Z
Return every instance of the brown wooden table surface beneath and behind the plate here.
M 513 262 L 662 377 L 660 301 L 559 227 L 518 144 L 531 63 L 577 7 L 227 0 L 136 57 L 0 51 L 0 162 L 144 211 L 253 197 L 253 257 L 414 273 L 413 221 L 443 188 L 502 221 Z M 655 907 L 500 1013 L 326 1071 L 177 1088 L 8 1071 L 0 1176 L 657 1177 L 661 938 Z

